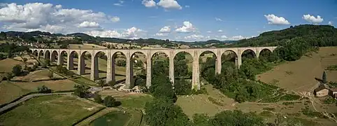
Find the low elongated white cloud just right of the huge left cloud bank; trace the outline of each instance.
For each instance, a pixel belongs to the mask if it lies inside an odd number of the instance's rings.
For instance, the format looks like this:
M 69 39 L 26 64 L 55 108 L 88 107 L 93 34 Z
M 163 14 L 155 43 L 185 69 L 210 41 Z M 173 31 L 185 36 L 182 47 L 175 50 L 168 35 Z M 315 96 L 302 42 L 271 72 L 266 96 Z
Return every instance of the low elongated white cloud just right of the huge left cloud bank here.
M 106 30 L 106 31 L 87 31 L 87 34 L 91 36 L 111 37 L 111 38 L 128 38 L 138 39 L 144 35 L 145 31 L 136 27 L 124 29 L 123 31 Z

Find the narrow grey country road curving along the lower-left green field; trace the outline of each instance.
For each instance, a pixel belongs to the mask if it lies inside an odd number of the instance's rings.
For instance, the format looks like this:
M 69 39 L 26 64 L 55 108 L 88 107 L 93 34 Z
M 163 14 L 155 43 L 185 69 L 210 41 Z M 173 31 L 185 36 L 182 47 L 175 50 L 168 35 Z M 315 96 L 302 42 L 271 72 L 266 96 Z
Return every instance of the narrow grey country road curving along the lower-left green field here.
M 11 104 L 7 104 L 6 106 L 3 106 L 2 108 L 0 108 L 0 113 L 2 113 L 3 111 L 6 111 L 7 109 L 15 107 L 15 106 L 17 106 L 17 104 L 25 102 L 25 101 L 27 101 L 31 98 L 40 97 L 40 96 L 48 96 L 48 95 L 71 95 L 71 92 L 50 93 L 50 94 L 30 94 L 30 95 L 27 95 L 27 96 L 22 97 L 21 99 L 17 100 L 17 102 L 13 102 Z

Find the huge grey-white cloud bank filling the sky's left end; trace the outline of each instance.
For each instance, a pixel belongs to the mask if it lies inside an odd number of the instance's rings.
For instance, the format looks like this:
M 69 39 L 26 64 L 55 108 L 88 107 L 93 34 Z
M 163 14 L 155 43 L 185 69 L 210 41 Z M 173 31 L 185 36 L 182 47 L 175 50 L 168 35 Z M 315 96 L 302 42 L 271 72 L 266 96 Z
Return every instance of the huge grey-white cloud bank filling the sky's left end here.
M 108 22 L 109 17 L 101 12 L 62 8 L 51 3 L 7 3 L 0 8 L 0 22 L 6 29 L 15 31 L 83 32 L 97 29 L 99 23 Z

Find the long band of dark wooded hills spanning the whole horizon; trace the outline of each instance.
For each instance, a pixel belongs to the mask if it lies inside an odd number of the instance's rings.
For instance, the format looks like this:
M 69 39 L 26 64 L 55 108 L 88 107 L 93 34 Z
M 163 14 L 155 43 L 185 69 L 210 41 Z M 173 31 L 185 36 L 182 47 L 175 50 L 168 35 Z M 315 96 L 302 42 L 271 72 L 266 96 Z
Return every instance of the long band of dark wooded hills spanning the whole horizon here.
M 24 41 L 36 41 L 36 38 L 42 38 L 41 36 L 50 38 L 55 36 L 72 36 L 78 37 L 81 41 L 86 41 L 87 43 L 101 43 L 103 41 L 110 43 L 136 43 L 139 45 L 164 45 L 166 47 L 177 46 L 178 44 L 190 45 L 194 48 L 207 47 L 206 45 L 212 45 L 215 47 L 247 47 L 247 46 L 272 46 L 280 45 L 282 41 L 290 40 L 293 38 L 302 38 L 304 41 L 309 41 L 311 45 L 315 46 L 325 46 L 325 45 L 337 45 L 337 29 L 330 25 L 298 25 L 294 27 L 289 27 L 287 29 L 282 29 L 278 31 L 267 31 L 254 38 L 242 39 L 240 41 L 219 41 L 219 40 L 208 40 L 208 41 L 195 41 L 195 42 L 185 42 L 185 41 L 169 41 L 168 39 L 156 39 L 156 38 L 139 38 L 139 39 L 124 39 L 124 38 L 107 38 L 99 36 L 89 36 L 83 33 L 73 33 L 73 34 L 51 34 L 50 32 L 44 31 L 7 31 L 6 36 L 19 36 L 24 39 Z M 232 43 L 232 44 L 224 44 Z

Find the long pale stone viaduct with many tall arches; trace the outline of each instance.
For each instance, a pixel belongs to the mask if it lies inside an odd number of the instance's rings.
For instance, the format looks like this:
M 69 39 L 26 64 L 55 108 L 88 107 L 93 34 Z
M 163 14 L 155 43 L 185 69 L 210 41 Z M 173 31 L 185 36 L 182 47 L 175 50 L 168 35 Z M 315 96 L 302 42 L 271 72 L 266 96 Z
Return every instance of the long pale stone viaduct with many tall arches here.
M 85 73 L 85 52 L 89 52 L 91 54 L 91 73 L 90 79 L 97 80 L 99 78 L 99 66 L 98 66 L 98 56 L 99 52 L 104 52 L 107 56 L 107 66 L 106 66 L 106 82 L 115 81 L 115 56 L 117 52 L 123 53 L 127 58 L 126 65 L 126 87 L 130 87 L 133 85 L 134 81 L 134 73 L 133 73 L 133 62 L 131 62 L 132 57 L 136 52 L 141 52 L 146 57 L 146 85 L 150 87 L 151 85 L 151 64 L 152 56 L 157 52 L 162 52 L 169 57 L 169 78 L 172 83 L 174 83 L 174 66 L 173 59 L 175 55 L 179 52 L 188 52 L 189 55 L 192 55 L 192 89 L 200 89 L 199 82 L 199 57 L 203 52 L 210 51 L 215 54 L 216 63 L 215 63 L 215 71 L 216 73 L 221 72 L 221 56 L 224 52 L 230 51 L 236 54 L 236 65 L 240 67 L 242 64 L 241 55 L 245 50 L 250 50 L 254 53 L 254 56 L 259 57 L 260 52 L 262 50 L 269 50 L 273 52 L 276 47 L 247 47 L 247 48 L 189 48 L 189 49 L 129 49 L 129 50 L 118 50 L 118 49 L 40 49 L 40 48 L 30 48 L 32 52 L 37 52 L 37 56 L 43 55 L 45 59 L 50 59 L 51 62 L 57 59 L 57 64 L 63 64 L 64 59 L 63 55 L 67 54 L 67 62 L 66 68 L 69 70 L 73 69 L 73 56 L 74 53 L 78 54 L 78 74 L 83 75 Z M 59 57 L 62 55 L 62 57 Z M 155 70 L 154 70 L 155 71 Z

